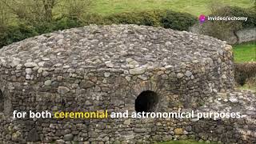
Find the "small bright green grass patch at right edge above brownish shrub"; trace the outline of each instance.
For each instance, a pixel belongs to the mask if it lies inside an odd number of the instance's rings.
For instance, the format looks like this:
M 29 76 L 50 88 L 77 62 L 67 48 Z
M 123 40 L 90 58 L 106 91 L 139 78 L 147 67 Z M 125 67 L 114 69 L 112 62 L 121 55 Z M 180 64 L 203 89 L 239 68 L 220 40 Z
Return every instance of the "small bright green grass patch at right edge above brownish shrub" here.
M 256 62 L 256 42 L 233 47 L 234 62 Z

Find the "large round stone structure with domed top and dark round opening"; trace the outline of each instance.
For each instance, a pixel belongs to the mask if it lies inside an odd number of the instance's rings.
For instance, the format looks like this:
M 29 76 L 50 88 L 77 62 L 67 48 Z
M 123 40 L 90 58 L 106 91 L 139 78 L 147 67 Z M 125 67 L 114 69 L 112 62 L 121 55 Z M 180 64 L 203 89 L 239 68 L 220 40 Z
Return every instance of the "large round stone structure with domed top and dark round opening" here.
M 198 109 L 218 92 L 234 88 L 232 58 L 231 46 L 216 38 L 135 25 L 85 26 L 5 46 L 0 50 L 4 103 L 0 143 L 202 138 L 206 128 L 196 133 L 198 126 L 187 119 L 11 116 L 13 110 Z M 145 103 L 150 107 L 141 106 Z M 203 139 L 230 142 L 234 138 L 211 137 Z

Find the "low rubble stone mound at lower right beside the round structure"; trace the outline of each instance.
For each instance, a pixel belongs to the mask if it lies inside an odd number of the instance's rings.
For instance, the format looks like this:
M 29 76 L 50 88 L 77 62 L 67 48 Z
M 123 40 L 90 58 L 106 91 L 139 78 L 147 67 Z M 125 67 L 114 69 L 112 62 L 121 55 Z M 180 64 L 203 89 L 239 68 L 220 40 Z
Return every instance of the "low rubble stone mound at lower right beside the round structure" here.
M 200 112 L 237 113 L 241 118 L 191 119 L 196 137 L 223 143 L 256 142 L 256 95 L 251 91 L 228 90 L 209 98 Z

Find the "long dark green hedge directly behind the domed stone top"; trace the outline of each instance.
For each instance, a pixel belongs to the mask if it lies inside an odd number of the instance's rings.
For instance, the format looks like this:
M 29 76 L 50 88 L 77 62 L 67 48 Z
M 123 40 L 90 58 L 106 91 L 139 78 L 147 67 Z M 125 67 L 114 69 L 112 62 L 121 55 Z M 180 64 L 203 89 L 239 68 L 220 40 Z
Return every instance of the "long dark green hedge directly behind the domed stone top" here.
M 105 17 L 98 14 L 86 14 L 83 20 L 76 18 L 56 18 L 52 22 L 38 22 L 33 26 L 27 23 L 21 23 L 18 24 L 18 26 L 7 26 L 7 28 L 1 30 L 0 47 L 38 34 L 45 34 L 53 32 L 54 30 L 63 30 L 90 24 L 137 24 L 145 26 L 163 26 L 174 30 L 188 30 L 195 22 L 197 22 L 197 18 L 193 15 L 171 10 L 120 13 Z

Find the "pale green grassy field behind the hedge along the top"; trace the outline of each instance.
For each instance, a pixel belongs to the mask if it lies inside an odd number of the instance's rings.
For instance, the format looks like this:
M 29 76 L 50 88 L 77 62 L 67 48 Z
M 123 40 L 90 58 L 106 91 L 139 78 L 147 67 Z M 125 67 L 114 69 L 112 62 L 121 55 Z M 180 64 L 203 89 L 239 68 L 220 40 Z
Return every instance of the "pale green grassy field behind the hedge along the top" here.
M 215 0 L 228 6 L 250 7 L 253 0 Z M 91 12 L 114 14 L 134 10 L 170 9 L 198 16 L 209 14 L 210 0 L 94 0 Z

